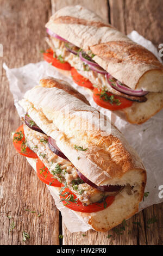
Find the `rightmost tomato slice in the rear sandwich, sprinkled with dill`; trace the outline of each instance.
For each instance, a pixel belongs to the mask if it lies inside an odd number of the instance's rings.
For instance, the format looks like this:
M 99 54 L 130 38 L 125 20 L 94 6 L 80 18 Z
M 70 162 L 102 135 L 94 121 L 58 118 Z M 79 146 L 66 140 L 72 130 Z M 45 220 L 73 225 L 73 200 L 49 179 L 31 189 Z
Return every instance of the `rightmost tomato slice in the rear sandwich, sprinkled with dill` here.
M 101 89 L 93 89 L 93 100 L 97 105 L 110 109 L 111 111 L 123 109 L 133 105 L 133 102 L 121 96 L 113 95 L 112 93 L 103 92 Z

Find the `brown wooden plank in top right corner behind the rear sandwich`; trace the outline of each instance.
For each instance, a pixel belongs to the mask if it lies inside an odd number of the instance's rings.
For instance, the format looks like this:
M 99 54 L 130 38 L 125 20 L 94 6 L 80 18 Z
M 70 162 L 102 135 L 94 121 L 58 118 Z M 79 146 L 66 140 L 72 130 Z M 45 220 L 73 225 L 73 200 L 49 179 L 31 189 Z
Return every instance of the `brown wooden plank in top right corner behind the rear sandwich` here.
M 135 30 L 157 48 L 163 42 L 162 0 L 109 0 L 109 5 L 111 23 L 118 30 Z

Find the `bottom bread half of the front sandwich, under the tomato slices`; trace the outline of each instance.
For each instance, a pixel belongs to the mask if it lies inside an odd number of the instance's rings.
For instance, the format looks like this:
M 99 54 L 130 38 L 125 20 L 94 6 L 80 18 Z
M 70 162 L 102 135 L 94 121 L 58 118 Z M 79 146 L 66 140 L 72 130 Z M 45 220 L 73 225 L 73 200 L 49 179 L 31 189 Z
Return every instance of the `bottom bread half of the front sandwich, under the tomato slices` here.
M 36 171 L 36 160 L 29 157 L 26 157 L 26 159 Z M 52 187 L 52 190 L 58 196 L 60 188 Z M 128 195 L 127 191 L 123 190 L 115 197 L 114 202 L 102 211 L 92 213 L 73 211 L 73 213 L 82 218 L 92 229 L 105 232 L 136 214 L 139 210 L 139 202 L 142 200 L 143 192 L 143 186 L 139 187 L 139 191 L 132 195 Z

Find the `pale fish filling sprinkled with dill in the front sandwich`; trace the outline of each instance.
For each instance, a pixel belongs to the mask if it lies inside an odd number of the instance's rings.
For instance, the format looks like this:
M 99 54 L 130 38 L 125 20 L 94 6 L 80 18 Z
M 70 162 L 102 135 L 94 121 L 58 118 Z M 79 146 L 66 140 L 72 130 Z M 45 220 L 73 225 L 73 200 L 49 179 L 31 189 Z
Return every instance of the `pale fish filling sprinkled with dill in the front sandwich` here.
M 24 136 L 28 147 L 45 164 L 54 178 L 70 188 L 83 205 L 102 202 L 110 195 L 110 192 L 99 191 L 80 179 L 76 167 L 70 161 L 62 159 L 49 149 L 47 135 L 34 131 L 24 124 Z

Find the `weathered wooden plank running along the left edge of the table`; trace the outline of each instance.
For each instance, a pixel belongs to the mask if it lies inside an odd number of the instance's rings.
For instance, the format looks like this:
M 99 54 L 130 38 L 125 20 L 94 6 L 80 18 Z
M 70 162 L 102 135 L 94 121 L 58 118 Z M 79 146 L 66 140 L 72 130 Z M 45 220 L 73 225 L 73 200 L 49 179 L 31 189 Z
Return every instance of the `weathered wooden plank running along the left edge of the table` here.
M 59 211 L 45 185 L 37 179 L 26 159 L 17 154 L 11 131 L 21 124 L 9 92 L 2 63 L 16 68 L 42 59 L 46 47 L 45 23 L 51 15 L 51 2 L 33 0 L 0 1 L 0 43 L 4 47 L 1 62 L 1 174 L 0 244 L 21 245 L 23 230 L 30 234 L 27 245 L 59 244 Z M 25 211 L 29 209 L 36 214 Z M 42 214 L 37 217 L 38 214 Z M 7 216 L 11 216 L 11 220 Z M 10 224 L 15 228 L 9 233 Z

